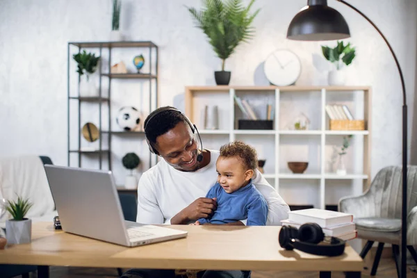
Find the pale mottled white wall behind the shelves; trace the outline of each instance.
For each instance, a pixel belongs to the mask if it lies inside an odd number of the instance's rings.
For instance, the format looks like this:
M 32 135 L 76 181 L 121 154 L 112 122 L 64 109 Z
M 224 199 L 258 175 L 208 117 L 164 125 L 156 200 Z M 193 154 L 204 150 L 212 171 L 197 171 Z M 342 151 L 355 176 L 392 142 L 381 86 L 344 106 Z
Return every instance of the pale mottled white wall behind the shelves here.
M 417 1 L 350 0 L 382 29 L 398 55 L 409 92 L 410 113 L 416 88 Z M 160 47 L 160 103 L 172 104 L 186 85 L 215 85 L 220 69 L 186 6 L 196 0 L 123 0 L 122 31 L 131 40 L 152 40 Z M 297 85 L 326 83 L 327 73 L 313 65 L 320 43 L 286 40 L 286 28 L 306 0 L 258 0 L 256 36 L 227 60 L 231 84 L 254 85 L 254 73 L 276 48 L 290 48 L 302 60 Z M 357 58 L 346 69 L 348 85 L 373 87 L 372 174 L 400 163 L 400 79 L 389 49 L 353 10 L 329 5 L 347 19 Z M 0 155 L 47 154 L 67 163 L 67 42 L 107 40 L 111 1 L 0 1 Z M 317 56 L 318 55 L 318 56 Z M 411 117 L 409 117 L 411 120 Z M 411 122 L 409 122 L 411 126 Z M 411 128 L 410 128 L 411 131 Z M 410 132 L 411 133 L 411 132 Z

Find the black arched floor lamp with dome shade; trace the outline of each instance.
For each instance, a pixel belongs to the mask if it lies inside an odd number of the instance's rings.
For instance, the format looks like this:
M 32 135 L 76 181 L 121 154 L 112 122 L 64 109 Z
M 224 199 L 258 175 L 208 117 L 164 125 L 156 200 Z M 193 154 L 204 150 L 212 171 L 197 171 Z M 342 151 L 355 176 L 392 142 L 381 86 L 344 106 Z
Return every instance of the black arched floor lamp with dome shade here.
M 382 36 L 386 45 L 388 45 L 391 54 L 394 57 L 395 64 L 398 67 L 400 73 L 400 79 L 402 84 L 402 228 L 401 228 L 401 263 L 400 263 L 400 276 L 406 277 L 407 268 L 407 101 L 405 95 L 404 76 L 400 63 L 398 63 L 397 56 L 386 40 L 384 34 L 379 28 L 360 10 L 354 8 L 350 3 L 346 3 L 343 0 L 339 1 L 346 6 L 349 6 L 355 10 L 359 15 L 364 17 Z M 341 13 L 338 13 L 334 8 L 327 6 L 327 0 L 308 0 L 307 6 L 302 8 L 297 15 L 293 18 L 288 26 L 287 38 L 290 40 L 341 40 L 350 37 L 349 26 Z

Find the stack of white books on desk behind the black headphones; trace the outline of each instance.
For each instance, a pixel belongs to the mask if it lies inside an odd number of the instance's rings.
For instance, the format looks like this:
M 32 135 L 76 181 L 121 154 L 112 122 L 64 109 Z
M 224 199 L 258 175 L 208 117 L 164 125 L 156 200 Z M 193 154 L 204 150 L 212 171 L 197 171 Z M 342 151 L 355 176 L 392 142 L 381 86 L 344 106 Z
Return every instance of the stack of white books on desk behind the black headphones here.
M 317 223 L 325 236 L 333 236 L 341 240 L 351 240 L 357 237 L 353 215 L 348 213 L 308 208 L 290 211 L 288 219 L 282 220 L 281 223 L 283 226 L 292 226 L 297 229 L 305 223 Z

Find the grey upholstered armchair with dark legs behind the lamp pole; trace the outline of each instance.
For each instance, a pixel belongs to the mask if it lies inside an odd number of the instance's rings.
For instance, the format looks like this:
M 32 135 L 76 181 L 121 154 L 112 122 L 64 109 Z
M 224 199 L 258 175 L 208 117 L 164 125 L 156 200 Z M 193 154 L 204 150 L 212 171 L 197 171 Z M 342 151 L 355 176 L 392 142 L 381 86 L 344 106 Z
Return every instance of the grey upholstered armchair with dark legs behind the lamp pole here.
M 340 199 L 338 210 L 352 213 L 358 231 L 358 238 L 368 242 L 361 251 L 362 259 L 373 246 L 379 243 L 371 276 L 376 275 L 384 243 L 391 243 L 395 265 L 398 268 L 398 257 L 401 238 L 401 204 L 402 204 L 402 169 L 389 166 L 380 170 L 368 190 L 357 197 Z M 407 170 L 407 249 L 417 263 L 417 166 Z

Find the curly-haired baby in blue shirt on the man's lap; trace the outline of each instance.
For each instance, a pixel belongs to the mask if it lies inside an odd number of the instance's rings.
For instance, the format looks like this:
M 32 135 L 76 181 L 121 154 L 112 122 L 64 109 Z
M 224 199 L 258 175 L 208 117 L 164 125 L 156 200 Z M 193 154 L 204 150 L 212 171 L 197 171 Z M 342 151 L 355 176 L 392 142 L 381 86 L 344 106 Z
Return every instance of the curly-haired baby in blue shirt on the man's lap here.
M 194 224 L 226 224 L 247 219 L 247 226 L 265 226 L 268 204 L 252 184 L 258 165 L 253 147 L 235 141 L 220 148 L 216 161 L 218 182 L 208 191 L 207 198 L 217 198 L 218 207 L 208 218 Z

